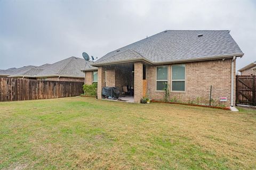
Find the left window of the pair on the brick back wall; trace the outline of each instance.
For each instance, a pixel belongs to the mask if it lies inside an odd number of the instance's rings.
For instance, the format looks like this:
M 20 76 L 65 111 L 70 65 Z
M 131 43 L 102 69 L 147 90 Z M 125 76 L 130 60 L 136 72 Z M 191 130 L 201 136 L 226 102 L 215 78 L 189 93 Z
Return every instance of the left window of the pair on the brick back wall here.
M 156 67 L 156 90 L 164 90 L 168 82 L 167 66 Z

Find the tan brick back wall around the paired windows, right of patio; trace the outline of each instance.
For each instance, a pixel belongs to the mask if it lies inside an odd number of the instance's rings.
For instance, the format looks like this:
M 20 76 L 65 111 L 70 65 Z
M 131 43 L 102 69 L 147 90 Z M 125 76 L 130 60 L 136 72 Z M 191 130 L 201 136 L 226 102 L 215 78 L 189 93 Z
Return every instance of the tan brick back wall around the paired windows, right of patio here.
M 186 91 L 171 91 L 171 65 L 168 65 L 168 84 L 170 98 L 178 98 L 182 102 L 196 101 L 202 98 L 203 103 L 209 104 L 210 86 L 212 85 L 212 98 L 219 102 L 220 97 L 227 97 L 230 106 L 231 97 L 231 59 L 190 62 L 186 63 Z M 234 101 L 235 101 L 235 64 L 234 64 Z M 163 99 L 164 91 L 156 91 L 156 66 L 147 66 L 147 94 L 151 99 Z

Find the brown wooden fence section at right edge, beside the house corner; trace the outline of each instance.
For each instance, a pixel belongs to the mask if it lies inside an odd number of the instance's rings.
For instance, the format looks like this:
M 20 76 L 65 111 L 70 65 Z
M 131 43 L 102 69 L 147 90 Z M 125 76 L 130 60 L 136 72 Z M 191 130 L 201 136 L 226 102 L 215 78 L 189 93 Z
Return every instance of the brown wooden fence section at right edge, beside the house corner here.
M 236 76 L 236 103 L 256 106 L 255 75 Z

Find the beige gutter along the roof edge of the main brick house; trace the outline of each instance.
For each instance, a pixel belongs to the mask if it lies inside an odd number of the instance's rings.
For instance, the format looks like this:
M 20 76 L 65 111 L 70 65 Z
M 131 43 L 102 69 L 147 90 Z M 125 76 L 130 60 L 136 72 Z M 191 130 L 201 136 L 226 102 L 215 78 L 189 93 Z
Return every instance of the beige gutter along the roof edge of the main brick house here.
M 165 61 L 165 62 L 153 62 L 148 60 L 145 57 L 139 57 L 139 58 L 133 58 L 128 60 L 120 60 L 120 61 L 113 61 L 113 62 L 106 62 L 106 63 L 93 63 L 91 65 L 102 66 L 102 65 L 121 64 L 121 63 L 138 62 L 138 61 L 143 61 L 152 65 L 159 65 L 159 64 L 185 63 L 185 62 L 205 61 L 205 60 L 218 60 L 223 58 L 233 58 L 234 56 L 242 57 L 243 55 L 244 53 L 239 53 L 239 54 L 232 54 L 232 55 L 211 56 L 211 57 L 192 58 L 187 60 L 175 60 L 175 61 Z

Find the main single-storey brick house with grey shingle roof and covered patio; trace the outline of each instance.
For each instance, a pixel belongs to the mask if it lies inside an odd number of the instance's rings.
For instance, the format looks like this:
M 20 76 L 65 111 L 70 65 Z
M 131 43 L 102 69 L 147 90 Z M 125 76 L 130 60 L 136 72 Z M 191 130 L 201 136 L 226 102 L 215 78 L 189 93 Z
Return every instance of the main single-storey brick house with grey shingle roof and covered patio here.
M 227 97 L 223 104 L 233 106 L 235 60 L 244 54 L 229 32 L 166 30 L 106 54 L 92 64 L 98 67 L 98 99 L 102 87 L 122 91 L 130 85 L 137 103 L 146 94 L 161 100 L 168 84 L 172 100 L 209 103 L 212 86 L 214 100 Z

